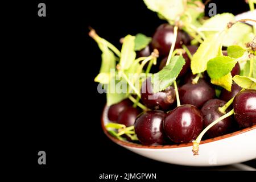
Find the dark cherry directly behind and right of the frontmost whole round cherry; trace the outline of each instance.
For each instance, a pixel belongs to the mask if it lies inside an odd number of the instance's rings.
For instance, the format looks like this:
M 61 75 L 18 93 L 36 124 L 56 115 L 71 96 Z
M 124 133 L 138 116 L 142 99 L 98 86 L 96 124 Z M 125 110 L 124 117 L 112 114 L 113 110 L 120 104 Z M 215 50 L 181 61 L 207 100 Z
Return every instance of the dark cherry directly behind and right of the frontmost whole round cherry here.
M 191 104 L 200 108 L 205 102 L 214 98 L 215 90 L 212 85 L 203 79 L 199 79 L 197 84 L 188 82 L 179 88 L 181 104 Z

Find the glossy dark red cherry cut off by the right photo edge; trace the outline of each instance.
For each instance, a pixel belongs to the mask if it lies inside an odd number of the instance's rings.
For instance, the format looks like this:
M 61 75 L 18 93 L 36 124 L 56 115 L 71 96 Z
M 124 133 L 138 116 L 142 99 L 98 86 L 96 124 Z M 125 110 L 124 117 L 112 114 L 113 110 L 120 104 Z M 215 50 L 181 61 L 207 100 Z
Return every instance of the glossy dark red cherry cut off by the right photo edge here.
M 256 90 L 239 92 L 233 101 L 234 117 L 240 127 L 256 125 Z

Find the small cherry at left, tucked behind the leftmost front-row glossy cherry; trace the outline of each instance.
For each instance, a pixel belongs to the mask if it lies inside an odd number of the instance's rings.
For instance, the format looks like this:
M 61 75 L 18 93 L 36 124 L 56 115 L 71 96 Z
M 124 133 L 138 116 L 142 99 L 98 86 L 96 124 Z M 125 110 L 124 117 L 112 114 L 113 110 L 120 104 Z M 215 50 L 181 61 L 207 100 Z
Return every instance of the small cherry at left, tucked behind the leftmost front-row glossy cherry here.
M 133 126 L 139 113 L 141 113 L 141 110 L 135 107 L 128 107 L 120 113 L 117 123 L 125 125 L 126 127 Z

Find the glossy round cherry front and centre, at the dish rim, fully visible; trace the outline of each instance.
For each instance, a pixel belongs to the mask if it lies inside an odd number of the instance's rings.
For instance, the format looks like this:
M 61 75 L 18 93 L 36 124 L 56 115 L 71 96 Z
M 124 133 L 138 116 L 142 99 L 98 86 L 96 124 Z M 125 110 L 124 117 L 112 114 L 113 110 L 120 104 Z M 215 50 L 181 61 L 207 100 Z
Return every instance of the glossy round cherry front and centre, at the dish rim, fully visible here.
M 164 133 L 173 142 L 191 142 L 203 129 L 203 116 L 195 106 L 181 105 L 166 115 L 163 128 Z

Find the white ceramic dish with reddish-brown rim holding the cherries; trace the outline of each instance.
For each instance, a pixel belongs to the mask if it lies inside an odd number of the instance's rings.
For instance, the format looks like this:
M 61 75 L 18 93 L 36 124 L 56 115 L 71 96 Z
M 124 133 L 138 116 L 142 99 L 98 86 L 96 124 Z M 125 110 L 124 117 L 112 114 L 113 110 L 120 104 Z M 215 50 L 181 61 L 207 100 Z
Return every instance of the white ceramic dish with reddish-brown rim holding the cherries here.
M 184 166 L 223 166 L 256 158 L 256 125 L 201 142 L 199 155 L 193 156 L 192 143 L 167 146 L 143 146 L 118 140 L 105 128 L 108 107 L 102 114 L 104 133 L 115 143 L 146 158 Z

